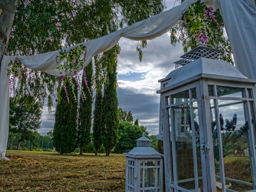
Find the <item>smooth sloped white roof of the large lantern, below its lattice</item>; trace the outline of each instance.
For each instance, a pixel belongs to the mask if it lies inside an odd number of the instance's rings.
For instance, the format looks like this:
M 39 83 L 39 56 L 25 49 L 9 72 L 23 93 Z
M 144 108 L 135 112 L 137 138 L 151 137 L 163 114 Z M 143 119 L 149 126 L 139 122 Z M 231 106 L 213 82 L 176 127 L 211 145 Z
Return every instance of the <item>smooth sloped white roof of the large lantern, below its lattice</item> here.
M 166 87 L 158 90 L 157 93 L 188 84 L 200 78 L 256 83 L 256 80 L 248 79 L 228 62 L 200 57 L 181 68 L 173 70 L 166 78 L 159 80 L 159 82 L 162 82 L 169 79 Z

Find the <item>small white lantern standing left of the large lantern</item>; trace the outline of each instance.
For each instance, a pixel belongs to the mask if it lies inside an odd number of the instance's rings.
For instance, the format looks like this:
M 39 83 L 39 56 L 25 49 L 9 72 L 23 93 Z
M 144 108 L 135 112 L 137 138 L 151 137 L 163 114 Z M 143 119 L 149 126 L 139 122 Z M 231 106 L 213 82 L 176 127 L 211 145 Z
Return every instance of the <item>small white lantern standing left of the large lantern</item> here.
M 143 133 L 137 146 L 126 156 L 126 192 L 162 192 L 162 154 L 151 147 L 152 140 Z

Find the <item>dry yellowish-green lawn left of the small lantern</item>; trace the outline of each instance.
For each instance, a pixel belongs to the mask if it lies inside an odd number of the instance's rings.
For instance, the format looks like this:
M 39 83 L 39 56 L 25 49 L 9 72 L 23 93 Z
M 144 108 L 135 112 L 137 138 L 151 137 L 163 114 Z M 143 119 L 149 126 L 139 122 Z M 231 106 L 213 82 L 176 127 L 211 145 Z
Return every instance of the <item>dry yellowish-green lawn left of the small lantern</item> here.
M 125 157 L 100 155 L 8 150 L 10 161 L 0 161 L 0 191 L 124 192 Z

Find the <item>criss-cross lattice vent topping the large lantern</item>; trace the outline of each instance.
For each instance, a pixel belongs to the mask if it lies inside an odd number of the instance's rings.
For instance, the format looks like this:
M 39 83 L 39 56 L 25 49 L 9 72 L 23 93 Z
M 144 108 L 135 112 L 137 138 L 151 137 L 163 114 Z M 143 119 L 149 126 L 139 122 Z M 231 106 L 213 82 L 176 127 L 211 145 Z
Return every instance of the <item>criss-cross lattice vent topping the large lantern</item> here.
M 197 60 L 200 57 L 222 60 L 222 52 L 222 50 L 218 50 L 209 44 L 203 46 L 203 44 L 200 42 L 197 48 L 194 48 L 182 55 L 180 57 L 182 58 L 181 60 L 174 62 L 175 69 L 181 68 L 182 66 Z

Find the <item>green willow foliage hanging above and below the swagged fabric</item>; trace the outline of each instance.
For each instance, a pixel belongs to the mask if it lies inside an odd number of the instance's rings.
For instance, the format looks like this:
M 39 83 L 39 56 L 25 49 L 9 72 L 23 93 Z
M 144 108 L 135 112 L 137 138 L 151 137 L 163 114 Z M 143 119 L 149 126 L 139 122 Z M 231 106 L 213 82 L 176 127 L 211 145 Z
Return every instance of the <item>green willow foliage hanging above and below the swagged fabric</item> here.
M 10 55 L 32 55 L 58 50 L 92 40 L 120 27 L 146 19 L 162 12 L 164 0 L 20 0 L 8 43 Z M 146 41 L 138 44 L 139 58 Z M 113 54 L 94 56 L 94 88 L 108 83 L 109 65 L 120 53 L 117 45 Z M 48 98 L 51 111 L 53 98 L 60 95 L 63 86 L 59 77 L 44 72 L 29 70 L 18 80 L 17 95 L 30 94 L 43 106 Z M 57 91 L 56 91 L 57 90 Z

